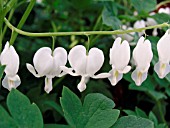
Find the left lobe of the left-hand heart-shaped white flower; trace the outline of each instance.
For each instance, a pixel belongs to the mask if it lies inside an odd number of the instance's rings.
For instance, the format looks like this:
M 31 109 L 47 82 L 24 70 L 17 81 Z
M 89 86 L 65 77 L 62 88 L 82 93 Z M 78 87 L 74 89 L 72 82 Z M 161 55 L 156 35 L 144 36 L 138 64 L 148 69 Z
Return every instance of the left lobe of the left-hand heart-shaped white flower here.
M 53 69 L 52 51 L 48 47 L 40 48 L 34 55 L 33 63 L 40 76 L 47 75 Z

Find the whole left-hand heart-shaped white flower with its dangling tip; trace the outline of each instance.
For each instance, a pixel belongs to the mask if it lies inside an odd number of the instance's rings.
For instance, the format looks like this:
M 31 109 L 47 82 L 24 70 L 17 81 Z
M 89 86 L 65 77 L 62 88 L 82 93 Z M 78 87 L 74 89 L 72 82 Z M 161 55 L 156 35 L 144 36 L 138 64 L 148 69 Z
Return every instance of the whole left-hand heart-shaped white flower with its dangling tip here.
M 67 52 L 61 47 L 56 48 L 53 52 L 50 48 L 43 47 L 35 53 L 33 63 L 34 67 L 26 64 L 27 69 L 35 77 L 46 76 L 44 90 L 49 93 L 52 90 L 52 78 L 64 75 L 61 66 L 67 63 Z

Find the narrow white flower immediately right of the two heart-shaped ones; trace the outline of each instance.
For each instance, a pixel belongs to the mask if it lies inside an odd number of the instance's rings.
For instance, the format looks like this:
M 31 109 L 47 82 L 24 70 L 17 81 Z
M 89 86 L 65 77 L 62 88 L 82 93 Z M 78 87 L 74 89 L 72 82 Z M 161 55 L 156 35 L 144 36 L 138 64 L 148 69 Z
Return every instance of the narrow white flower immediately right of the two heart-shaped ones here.
M 118 37 L 114 41 L 113 47 L 110 49 L 110 64 L 112 70 L 109 72 L 111 76 L 109 80 L 112 85 L 116 85 L 123 77 L 123 73 L 130 71 L 131 66 L 127 66 L 130 60 L 130 46 L 129 43 L 124 40 L 121 42 L 121 38 Z

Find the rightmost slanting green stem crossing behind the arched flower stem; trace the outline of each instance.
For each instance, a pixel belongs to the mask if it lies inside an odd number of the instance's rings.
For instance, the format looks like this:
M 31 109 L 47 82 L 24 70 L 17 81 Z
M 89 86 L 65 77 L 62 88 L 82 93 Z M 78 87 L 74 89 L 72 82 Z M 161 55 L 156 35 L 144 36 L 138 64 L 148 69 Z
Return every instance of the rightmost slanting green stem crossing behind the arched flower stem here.
M 18 24 L 18 26 L 17 26 L 18 29 L 21 29 L 22 26 L 24 25 L 26 19 L 28 18 L 29 14 L 30 14 L 30 12 L 31 12 L 34 4 L 35 4 L 35 2 L 36 2 L 36 0 L 31 0 L 31 1 L 30 1 L 29 5 L 28 5 L 28 7 L 27 7 L 27 9 L 26 9 L 26 11 L 24 12 L 24 15 L 22 16 L 22 18 L 21 18 L 21 20 L 20 20 L 20 22 L 19 22 L 19 24 Z M 14 44 L 17 36 L 18 36 L 18 33 L 16 33 L 16 31 L 14 30 L 14 32 L 12 33 L 11 39 L 10 39 L 10 44 L 11 44 L 11 45 Z

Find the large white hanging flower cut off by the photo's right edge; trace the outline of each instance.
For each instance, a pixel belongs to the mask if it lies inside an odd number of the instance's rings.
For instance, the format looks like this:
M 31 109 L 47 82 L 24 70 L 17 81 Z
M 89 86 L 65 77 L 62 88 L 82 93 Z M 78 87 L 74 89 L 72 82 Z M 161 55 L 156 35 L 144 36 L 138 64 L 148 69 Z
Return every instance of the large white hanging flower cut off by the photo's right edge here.
M 159 61 L 154 70 L 159 78 L 164 78 L 170 72 L 170 29 L 161 37 L 157 44 Z

